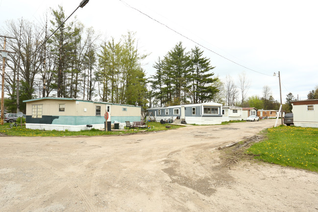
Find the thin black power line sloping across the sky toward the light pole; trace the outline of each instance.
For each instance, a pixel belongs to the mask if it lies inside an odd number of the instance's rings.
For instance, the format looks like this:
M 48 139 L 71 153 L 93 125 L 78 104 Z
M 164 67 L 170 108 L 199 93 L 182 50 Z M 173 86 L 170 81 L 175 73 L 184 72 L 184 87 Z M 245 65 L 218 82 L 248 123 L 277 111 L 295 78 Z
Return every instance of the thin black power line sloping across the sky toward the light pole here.
M 178 32 L 178 31 L 176 31 L 176 30 L 172 29 L 172 28 L 171 28 L 171 27 L 169 27 L 168 25 L 163 24 L 163 23 L 161 23 L 161 22 L 157 21 L 156 19 L 154 19 L 154 18 L 150 17 L 150 16 L 149 16 L 149 15 L 147 15 L 146 13 L 144 13 L 144 12 L 140 11 L 139 9 L 137 9 L 137 8 L 135 8 L 135 7 L 132 7 L 131 5 L 129 5 L 128 3 L 126 3 L 125 1 L 123 1 L 123 0 L 120 0 L 120 1 L 122 1 L 122 3 L 123 3 L 123 4 L 125 4 L 127 7 L 130 7 L 131 9 L 134 9 L 134 10 L 138 11 L 139 13 L 141 13 L 141 14 L 143 14 L 143 15 L 147 16 L 149 19 L 151 19 L 151 20 L 153 20 L 153 21 L 157 22 L 158 24 L 161 24 L 161 25 L 163 25 L 163 26 L 167 27 L 167 28 L 168 28 L 168 29 L 170 29 L 171 31 L 173 31 L 173 32 L 175 32 L 175 33 L 177 33 L 177 34 L 181 35 L 182 37 L 184 37 L 184 38 L 188 39 L 189 41 L 192 41 L 192 42 L 193 42 L 193 43 L 195 43 L 196 45 L 198 45 L 198 46 L 200 46 L 200 47 L 203 47 L 203 48 L 207 49 L 208 51 L 211 51 L 212 53 L 214 53 L 214 54 L 216 54 L 216 55 L 219 55 L 220 57 L 224 58 L 225 60 L 228 60 L 228 61 L 230 61 L 230 62 L 232 62 L 232 63 L 234 63 L 234 64 L 236 64 L 236 65 L 238 65 L 238 66 L 241 66 L 241 67 L 243 67 L 243 68 L 245 68 L 245 69 L 247 69 L 247 70 L 254 71 L 254 72 L 257 72 L 257 73 L 260 73 L 260 74 L 264 74 L 264 75 L 267 75 L 267 76 L 271 76 L 271 75 L 266 74 L 266 73 L 262 73 L 262 72 L 259 72 L 259 71 L 255 71 L 255 70 L 253 70 L 253 69 L 249 69 L 249 68 L 247 68 L 247 67 L 245 67 L 245 66 L 243 66 L 243 65 L 241 65 L 241 64 L 239 64 L 239 63 L 237 63 L 237 62 L 235 62 L 235 61 L 233 61 L 233 60 L 231 60 L 231 59 L 228 59 L 228 58 L 226 58 L 226 57 L 224 57 L 224 56 L 220 55 L 219 53 L 217 53 L 217 52 L 215 52 L 215 51 L 211 50 L 210 48 L 208 48 L 208 47 L 204 47 L 204 46 L 202 46 L 201 44 L 199 44 L 199 43 L 197 43 L 196 41 L 194 41 L 193 39 L 188 38 L 187 36 L 185 36 L 185 35 L 181 34 L 180 32 Z

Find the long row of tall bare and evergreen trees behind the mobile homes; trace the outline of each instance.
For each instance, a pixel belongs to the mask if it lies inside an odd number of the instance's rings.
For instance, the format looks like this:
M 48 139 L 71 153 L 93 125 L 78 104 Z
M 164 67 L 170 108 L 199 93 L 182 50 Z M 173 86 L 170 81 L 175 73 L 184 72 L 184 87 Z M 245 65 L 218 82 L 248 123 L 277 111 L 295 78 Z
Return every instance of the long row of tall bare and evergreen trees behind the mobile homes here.
M 198 47 L 186 52 L 178 43 L 163 60 L 158 59 L 153 66 L 156 73 L 147 79 L 142 68 L 147 54 L 139 53 L 134 33 L 100 45 L 93 28 L 85 28 L 76 18 L 61 25 L 65 19 L 59 6 L 41 24 L 21 19 L 7 21 L 3 27 L 0 34 L 17 38 L 7 42 L 7 50 L 16 52 L 6 60 L 7 110 L 24 111 L 23 100 L 35 97 L 149 103 L 151 107 L 211 101 L 218 92 L 212 85 L 217 80 L 211 72 L 214 67 Z

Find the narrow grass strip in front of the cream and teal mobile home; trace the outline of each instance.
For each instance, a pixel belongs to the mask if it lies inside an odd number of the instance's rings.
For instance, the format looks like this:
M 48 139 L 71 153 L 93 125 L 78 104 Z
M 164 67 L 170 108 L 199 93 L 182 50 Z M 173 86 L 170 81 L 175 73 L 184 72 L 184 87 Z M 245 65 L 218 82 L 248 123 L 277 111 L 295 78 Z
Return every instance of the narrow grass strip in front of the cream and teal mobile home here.
M 166 128 L 169 124 L 161 124 L 159 122 L 149 122 L 148 124 L 151 126 L 151 129 L 147 129 L 147 132 L 152 131 L 161 131 L 161 130 L 171 130 L 176 129 L 182 126 L 178 125 L 170 125 L 171 128 Z M 52 136 L 52 137 L 58 137 L 58 136 L 102 136 L 102 135 L 121 135 L 121 134 L 131 134 L 131 133 L 138 133 L 143 132 L 145 129 L 130 129 L 127 131 L 100 131 L 97 129 L 91 129 L 91 130 L 82 130 L 79 132 L 70 132 L 68 130 L 66 131 L 48 131 L 48 130 L 31 130 L 26 129 L 25 125 L 22 126 L 18 125 L 18 127 L 10 128 L 9 123 L 4 123 L 3 125 L 0 125 L 0 134 L 4 134 L 7 136 Z

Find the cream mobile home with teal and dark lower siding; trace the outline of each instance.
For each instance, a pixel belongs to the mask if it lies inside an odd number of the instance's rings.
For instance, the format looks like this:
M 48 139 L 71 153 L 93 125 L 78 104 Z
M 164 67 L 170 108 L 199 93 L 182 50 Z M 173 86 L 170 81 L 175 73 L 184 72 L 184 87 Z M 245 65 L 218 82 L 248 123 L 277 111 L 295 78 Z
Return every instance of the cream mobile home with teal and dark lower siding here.
M 26 128 L 41 130 L 86 130 L 87 124 L 103 129 L 107 121 L 140 121 L 141 107 L 80 100 L 74 98 L 44 97 L 26 102 Z

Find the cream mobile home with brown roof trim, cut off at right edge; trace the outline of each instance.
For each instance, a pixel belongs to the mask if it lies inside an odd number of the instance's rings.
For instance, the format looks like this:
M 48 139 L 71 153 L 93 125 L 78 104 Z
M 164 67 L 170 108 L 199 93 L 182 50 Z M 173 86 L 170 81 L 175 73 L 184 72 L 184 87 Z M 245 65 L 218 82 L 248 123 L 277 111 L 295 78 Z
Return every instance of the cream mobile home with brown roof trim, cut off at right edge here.
M 318 99 L 292 102 L 294 125 L 298 127 L 318 127 Z

